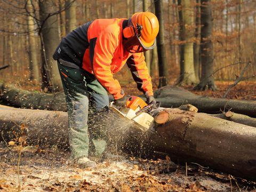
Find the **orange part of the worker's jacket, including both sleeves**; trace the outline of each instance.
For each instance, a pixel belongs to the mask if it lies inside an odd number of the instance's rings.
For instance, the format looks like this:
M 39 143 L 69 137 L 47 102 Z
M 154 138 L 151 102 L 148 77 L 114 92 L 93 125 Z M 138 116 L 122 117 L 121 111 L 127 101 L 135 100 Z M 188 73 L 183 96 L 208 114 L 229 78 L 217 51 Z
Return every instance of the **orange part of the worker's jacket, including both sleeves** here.
M 137 87 L 153 95 L 151 78 L 143 53 L 129 53 L 122 44 L 122 25 L 125 19 L 97 19 L 87 31 L 89 47 L 85 50 L 82 68 L 94 74 L 100 84 L 115 99 L 124 97 L 113 74 L 127 63 Z

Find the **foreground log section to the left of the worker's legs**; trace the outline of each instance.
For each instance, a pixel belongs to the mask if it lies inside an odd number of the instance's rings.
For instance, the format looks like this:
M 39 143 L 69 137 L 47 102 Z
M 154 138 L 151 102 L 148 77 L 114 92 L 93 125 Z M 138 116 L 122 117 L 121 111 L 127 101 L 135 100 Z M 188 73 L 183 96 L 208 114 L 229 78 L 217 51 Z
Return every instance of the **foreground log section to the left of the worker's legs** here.
M 21 124 L 28 127 L 28 143 L 68 147 L 68 117 L 66 112 L 16 109 L 0 105 L 0 141 L 11 141 L 13 131 L 19 133 Z

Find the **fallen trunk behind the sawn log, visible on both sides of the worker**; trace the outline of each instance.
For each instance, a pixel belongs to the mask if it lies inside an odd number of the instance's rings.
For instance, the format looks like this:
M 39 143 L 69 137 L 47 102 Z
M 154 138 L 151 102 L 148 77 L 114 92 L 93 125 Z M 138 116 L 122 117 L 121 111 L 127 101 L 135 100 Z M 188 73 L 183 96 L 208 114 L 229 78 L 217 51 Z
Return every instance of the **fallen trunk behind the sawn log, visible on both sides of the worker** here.
M 67 111 L 63 93 L 29 92 L 3 83 L 0 83 L 0 92 L 0 98 L 16 107 Z M 203 97 L 175 86 L 162 87 L 154 92 L 154 96 L 165 108 L 191 104 L 203 113 L 219 114 L 232 109 L 235 113 L 256 117 L 256 101 Z

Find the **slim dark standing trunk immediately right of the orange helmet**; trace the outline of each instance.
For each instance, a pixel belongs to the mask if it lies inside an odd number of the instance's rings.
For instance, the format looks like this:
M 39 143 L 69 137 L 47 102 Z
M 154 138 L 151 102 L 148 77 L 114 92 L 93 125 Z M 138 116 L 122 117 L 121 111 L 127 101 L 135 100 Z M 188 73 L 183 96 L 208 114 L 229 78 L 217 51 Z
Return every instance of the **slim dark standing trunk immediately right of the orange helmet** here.
M 158 54 L 158 71 L 159 71 L 159 85 L 162 87 L 167 85 L 167 62 L 164 45 L 164 18 L 163 18 L 163 1 L 155 1 L 156 17 L 159 21 L 159 34 L 156 37 L 157 42 L 157 54 Z

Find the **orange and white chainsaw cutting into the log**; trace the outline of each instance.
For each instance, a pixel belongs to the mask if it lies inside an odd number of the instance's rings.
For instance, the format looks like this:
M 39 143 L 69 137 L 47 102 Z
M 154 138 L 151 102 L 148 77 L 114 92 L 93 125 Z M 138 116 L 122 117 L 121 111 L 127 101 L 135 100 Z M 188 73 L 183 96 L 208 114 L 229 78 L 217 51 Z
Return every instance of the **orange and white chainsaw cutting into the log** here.
M 137 96 L 129 97 L 123 107 L 116 107 L 113 103 L 114 102 L 110 102 L 111 109 L 119 114 L 119 116 L 131 119 L 139 124 L 139 128 L 144 132 L 148 131 L 153 126 L 153 111 L 160 107 L 160 102 L 156 102 L 156 105 L 152 107 Z

